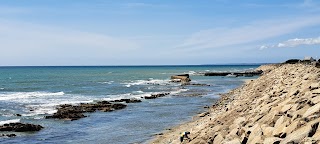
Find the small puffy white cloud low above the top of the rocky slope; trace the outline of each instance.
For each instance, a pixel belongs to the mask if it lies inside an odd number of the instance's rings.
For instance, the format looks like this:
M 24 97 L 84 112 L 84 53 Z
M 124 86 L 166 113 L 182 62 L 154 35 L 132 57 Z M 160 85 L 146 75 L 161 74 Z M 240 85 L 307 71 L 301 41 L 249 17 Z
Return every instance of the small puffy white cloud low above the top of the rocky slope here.
M 280 42 L 276 45 L 262 45 L 260 46 L 260 50 L 266 49 L 266 48 L 283 48 L 283 47 L 298 47 L 301 45 L 320 45 L 320 37 L 317 38 L 295 38 L 295 39 L 289 39 L 284 42 Z

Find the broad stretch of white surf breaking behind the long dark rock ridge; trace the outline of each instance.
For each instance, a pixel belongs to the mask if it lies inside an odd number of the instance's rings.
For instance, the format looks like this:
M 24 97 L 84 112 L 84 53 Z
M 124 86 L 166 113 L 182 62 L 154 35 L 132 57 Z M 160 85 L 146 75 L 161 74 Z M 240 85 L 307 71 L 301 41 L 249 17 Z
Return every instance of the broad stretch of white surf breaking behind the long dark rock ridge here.
M 48 92 L 19 92 L 19 93 L 6 93 L 0 94 L 0 100 L 10 100 L 10 102 L 21 103 L 20 106 L 23 112 L 20 113 L 23 117 L 32 117 L 34 119 L 43 118 L 42 115 L 51 115 L 57 112 L 56 107 L 62 104 L 80 104 L 80 103 L 92 103 L 101 100 L 119 100 L 119 99 L 142 99 L 145 96 L 151 94 L 158 94 L 164 92 L 170 92 L 172 95 L 180 92 L 187 91 L 187 89 L 171 89 L 169 91 L 158 91 L 158 92 L 144 92 L 141 90 L 132 91 L 130 93 L 118 94 L 118 95 L 107 95 L 104 98 L 99 97 L 87 97 L 83 95 L 70 95 L 64 94 L 63 92 L 48 93 Z M 49 96 L 49 97 L 48 97 Z M 62 97 L 52 97 L 62 96 Z

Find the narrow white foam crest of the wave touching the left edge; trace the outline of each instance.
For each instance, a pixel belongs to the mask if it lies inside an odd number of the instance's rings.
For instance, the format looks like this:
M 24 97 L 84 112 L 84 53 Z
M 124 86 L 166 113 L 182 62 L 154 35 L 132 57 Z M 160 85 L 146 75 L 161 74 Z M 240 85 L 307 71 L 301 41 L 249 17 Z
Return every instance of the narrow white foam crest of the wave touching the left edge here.
M 47 96 L 62 96 L 64 92 L 6 92 L 0 93 L 0 101 L 14 100 L 14 99 L 28 99 L 28 98 L 38 98 Z

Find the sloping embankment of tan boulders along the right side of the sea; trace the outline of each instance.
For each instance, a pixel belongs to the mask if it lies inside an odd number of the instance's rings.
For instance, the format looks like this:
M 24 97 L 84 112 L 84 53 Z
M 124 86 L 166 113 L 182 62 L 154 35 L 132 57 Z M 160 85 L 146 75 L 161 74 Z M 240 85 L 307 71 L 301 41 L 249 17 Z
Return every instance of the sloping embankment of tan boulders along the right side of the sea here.
M 256 80 L 222 94 L 208 112 L 157 135 L 150 143 L 320 143 L 320 69 L 264 65 Z

